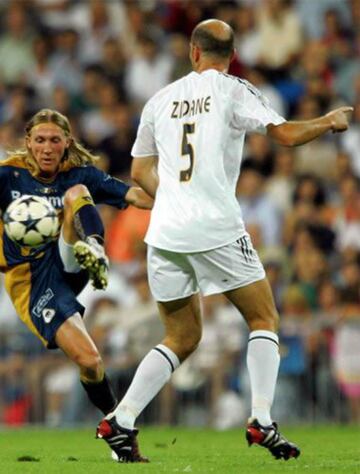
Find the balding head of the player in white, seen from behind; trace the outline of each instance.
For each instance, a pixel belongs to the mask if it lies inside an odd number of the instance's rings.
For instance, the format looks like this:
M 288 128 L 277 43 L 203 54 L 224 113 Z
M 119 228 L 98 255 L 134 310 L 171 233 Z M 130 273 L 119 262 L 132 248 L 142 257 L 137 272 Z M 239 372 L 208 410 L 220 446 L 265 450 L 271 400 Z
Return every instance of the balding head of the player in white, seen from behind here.
M 191 43 L 205 54 L 228 59 L 234 51 L 234 32 L 224 21 L 205 20 L 194 28 Z

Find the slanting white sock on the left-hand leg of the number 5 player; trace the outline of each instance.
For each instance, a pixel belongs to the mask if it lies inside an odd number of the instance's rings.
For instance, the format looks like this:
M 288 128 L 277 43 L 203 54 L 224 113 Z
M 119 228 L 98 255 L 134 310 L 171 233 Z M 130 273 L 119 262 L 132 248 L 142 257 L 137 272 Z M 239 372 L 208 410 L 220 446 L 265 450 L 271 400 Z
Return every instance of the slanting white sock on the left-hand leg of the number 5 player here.
M 115 415 L 119 425 L 133 429 L 136 418 L 162 389 L 179 365 L 177 355 L 163 344 L 151 349 L 140 362 L 124 398 L 108 417 Z

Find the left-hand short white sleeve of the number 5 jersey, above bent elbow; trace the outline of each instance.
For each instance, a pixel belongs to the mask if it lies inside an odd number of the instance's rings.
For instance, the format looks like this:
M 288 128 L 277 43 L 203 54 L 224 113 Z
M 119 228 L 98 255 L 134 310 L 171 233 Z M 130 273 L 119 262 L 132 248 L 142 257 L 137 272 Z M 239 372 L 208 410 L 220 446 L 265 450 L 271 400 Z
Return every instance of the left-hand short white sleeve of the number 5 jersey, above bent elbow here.
M 151 100 L 145 104 L 142 111 L 131 155 L 134 157 L 158 155 L 154 134 L 153 103 Z

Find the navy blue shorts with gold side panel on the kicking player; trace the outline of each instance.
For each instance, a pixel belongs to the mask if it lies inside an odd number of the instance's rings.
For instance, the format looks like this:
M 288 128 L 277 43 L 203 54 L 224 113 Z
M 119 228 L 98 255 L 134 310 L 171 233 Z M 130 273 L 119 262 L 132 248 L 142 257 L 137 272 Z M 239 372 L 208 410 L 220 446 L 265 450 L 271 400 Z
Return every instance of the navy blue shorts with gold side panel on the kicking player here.
M 5 286 L 20 319 L 48 349 L 57 347 L 56 331 L 64 321 L 75 313 L 84 314 L 76 296 L 87 281 L 85 271 L 64 271 L 57 242 L 5 274 Z

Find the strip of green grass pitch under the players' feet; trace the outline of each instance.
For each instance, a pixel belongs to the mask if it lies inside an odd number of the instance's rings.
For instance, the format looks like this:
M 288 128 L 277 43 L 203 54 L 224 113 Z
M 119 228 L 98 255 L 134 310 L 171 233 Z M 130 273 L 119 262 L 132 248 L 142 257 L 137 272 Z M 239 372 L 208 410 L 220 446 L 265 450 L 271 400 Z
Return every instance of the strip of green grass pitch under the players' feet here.
M 1 474 L 111 473 L 360 473 L 360 428 L 291 427 L 283 430 L 302 449 L 298 459 L 272 458 L 258 446 L 248 448 L 244 430 L 143 428 L 141 452 L 150 464 L 118 464 L 94 439 L 94 429 L 0 431 Z M 22 459 L 22 460 L 21 460 Z

